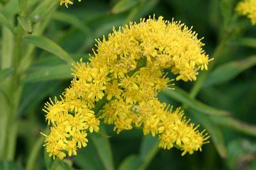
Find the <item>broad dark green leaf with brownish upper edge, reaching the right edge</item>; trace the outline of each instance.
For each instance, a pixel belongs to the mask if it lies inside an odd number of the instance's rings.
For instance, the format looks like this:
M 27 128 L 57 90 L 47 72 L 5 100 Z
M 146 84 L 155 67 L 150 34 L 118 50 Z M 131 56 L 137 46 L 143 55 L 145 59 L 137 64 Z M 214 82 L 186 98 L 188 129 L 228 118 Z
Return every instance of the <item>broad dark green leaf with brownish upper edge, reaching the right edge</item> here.
M 242 73 L 246 69 L 256 65 L 256 55 L 248 57 L 244 60 L 232 61 L 227 64 L 223 64 L 214 69 L 209 76 L 207 76 L 203 87 L 209 87 L 212 85 L 218 85 L 225 83 L 232 78 L 235 78 L 238 74 Z

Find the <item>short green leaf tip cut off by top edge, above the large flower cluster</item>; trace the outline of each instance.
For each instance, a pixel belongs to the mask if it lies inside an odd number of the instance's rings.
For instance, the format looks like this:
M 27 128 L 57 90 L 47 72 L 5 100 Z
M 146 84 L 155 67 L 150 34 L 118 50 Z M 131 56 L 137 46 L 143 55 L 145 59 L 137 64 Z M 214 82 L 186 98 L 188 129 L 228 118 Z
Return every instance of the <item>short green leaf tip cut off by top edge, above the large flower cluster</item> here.
M 138 4 L 137 0 L 120 0 L 113 6 L 111 11 L 114 14 L 122 13 L 131 9 L 136 4 Z

